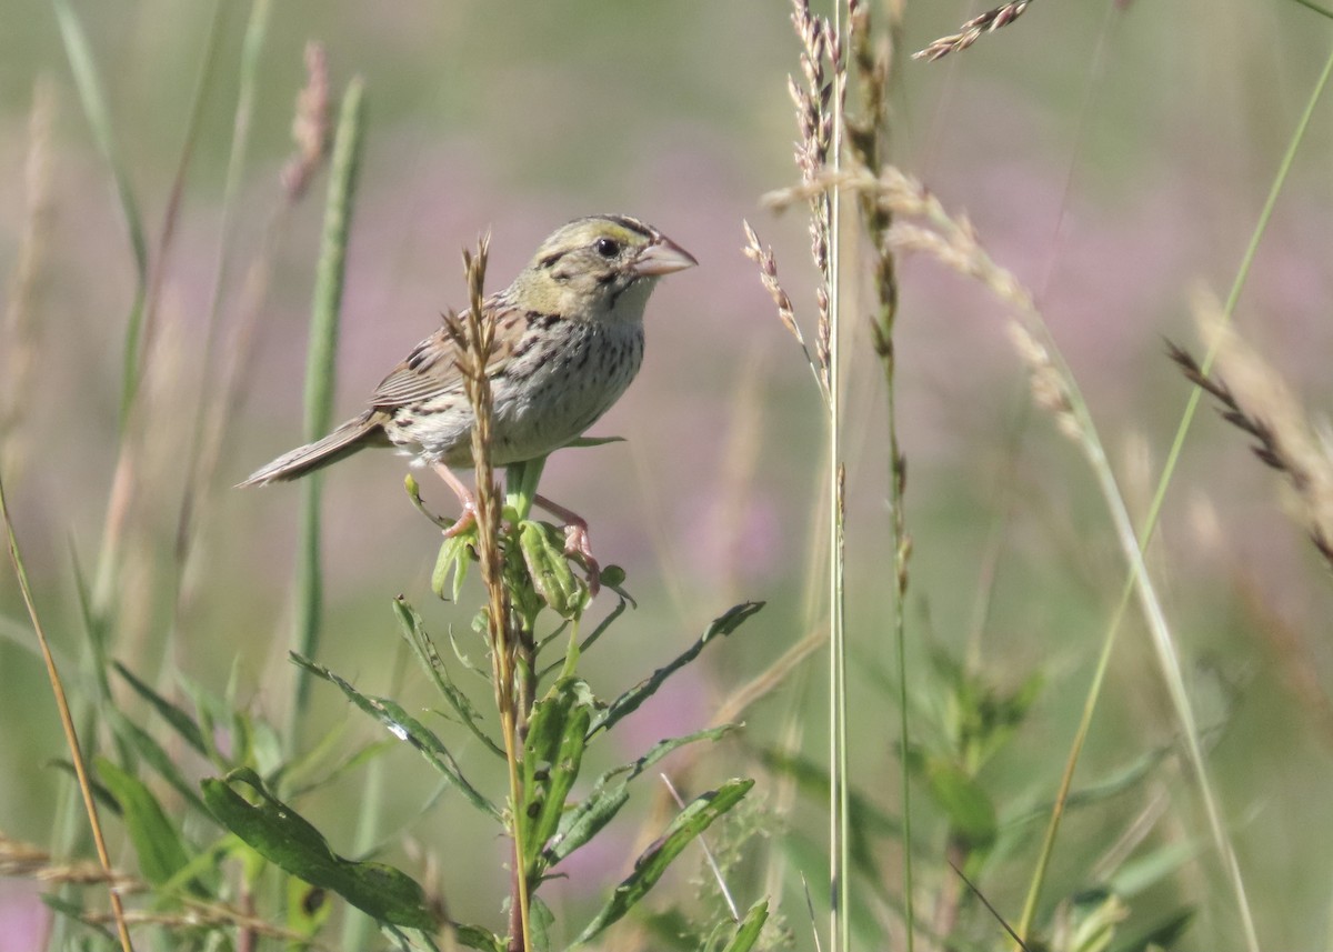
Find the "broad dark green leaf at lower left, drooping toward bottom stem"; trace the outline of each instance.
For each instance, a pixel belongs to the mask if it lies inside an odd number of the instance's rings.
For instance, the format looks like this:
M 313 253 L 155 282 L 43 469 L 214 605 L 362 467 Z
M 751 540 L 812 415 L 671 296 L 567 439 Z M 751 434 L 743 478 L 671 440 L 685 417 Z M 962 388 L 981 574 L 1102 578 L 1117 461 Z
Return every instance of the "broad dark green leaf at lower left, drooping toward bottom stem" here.
M 255 852 L 311 885 L 336 892 L 361 912 L 395 925 L 433 931 L 435 916 L 425 892 L 411 876 L 384 863 L 343 859 L 324 836 L 292 807 L 273 797 L 255 771 L 241 768 L 225 780 L 203 781 L 204 801 L 217 821 Z M 236 787 L 248 787 L 259 803 L 249 804 Z

